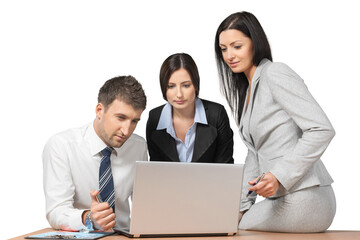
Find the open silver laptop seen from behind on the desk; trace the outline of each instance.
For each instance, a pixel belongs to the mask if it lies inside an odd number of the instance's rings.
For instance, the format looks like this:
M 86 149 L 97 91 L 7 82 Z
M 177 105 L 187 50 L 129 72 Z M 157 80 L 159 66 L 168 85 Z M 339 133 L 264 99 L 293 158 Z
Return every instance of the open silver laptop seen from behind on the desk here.
M 238 230 L 243 164 L 136 162 L 127 237 L 224 236 Z

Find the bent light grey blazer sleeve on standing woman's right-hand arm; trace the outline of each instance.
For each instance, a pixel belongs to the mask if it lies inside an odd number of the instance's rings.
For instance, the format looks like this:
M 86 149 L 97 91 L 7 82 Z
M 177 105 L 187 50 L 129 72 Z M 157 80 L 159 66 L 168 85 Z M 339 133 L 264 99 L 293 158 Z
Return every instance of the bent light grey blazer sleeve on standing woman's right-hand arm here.
M 288 66 L 274 63 L 267 69 L 265 79 L 274 101 L 302 131 L 292 151 L 270 169 L 285 189 L 289 190 L 320 159 L 335 131 L 304 81 Z

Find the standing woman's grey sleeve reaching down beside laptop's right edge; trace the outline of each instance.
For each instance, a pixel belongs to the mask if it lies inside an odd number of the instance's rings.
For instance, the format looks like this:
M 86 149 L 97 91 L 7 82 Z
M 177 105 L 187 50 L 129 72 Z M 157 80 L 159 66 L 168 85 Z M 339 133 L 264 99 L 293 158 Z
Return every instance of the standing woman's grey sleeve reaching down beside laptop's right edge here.
M 249 210 L 255 203 L 257 195 L 246 197 L 250 185 L 249 181 L 257 178 L 260 175 L 259 166 L 255 157 L 255 154 L 248 150 L 248 154 L 245 159 L 243 184 L 241 190 L 241 204 L 240 212 Z

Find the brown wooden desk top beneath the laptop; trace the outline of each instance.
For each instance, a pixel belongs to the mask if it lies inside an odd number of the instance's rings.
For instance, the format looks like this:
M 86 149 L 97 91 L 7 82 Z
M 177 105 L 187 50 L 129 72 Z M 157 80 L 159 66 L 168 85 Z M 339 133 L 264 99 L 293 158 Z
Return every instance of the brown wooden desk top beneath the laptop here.
M 45 228 L 36 232 L 32 232 L 23 236 L 16 238 L 11 238 L 10 240 L 21 240 L 24 237 L 39 233 L 51 232 L 54 231 L 51 228 Z M 120 235 L 113 235 L 105 238 L 104 240 L 129 240 Z M 136 238 L 133 238 L 136 239 Z M 360 240 L 360 231 L 326 231 L 324 233 L 270 233 L 270 232 L 258 232 L 258 231 L 243 231 L 239 230 L 236 236 L 231 237 L 181 237 L 181 238 L 140 238 L 145 240 L 159 239 L 159 240 L 298 240 L 298 239 L 311 239 L 311 240 Z

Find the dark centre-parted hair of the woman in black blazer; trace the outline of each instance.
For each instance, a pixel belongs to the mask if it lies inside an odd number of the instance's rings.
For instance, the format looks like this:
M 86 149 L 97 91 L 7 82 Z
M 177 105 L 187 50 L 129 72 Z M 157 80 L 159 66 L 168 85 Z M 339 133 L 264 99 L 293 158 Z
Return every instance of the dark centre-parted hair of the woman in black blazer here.
M 199 96 L 200 76 L 194 59 L 187 53 L 175 53 L 165 59 L 160 68 L 160 88 L 163 98 L 167 101 L 166 91 L 171 75 L 184 68 L 191 77 L 191 82 L 195 88 L 195 96 Z

